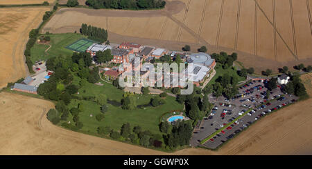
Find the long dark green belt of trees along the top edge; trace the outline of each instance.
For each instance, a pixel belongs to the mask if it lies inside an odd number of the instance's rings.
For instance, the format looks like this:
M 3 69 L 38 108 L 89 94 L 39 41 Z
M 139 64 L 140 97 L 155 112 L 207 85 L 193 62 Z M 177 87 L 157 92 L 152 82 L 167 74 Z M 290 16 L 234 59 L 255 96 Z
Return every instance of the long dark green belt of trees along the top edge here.
M 87 6 L 94 9 L 113 8 L 113 9 L 131 9 L 147 10 L 155 8 L 164 8 L 166 1 L 163 0 L 87 0 Z

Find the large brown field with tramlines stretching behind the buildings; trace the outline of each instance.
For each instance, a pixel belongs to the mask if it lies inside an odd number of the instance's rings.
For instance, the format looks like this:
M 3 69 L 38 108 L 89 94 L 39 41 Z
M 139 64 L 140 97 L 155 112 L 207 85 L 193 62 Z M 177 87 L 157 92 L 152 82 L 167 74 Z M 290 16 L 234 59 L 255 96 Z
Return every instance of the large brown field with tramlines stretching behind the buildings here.
M 136 43 L 156 39 L 166 48 L 195 52 L 238 52 L 239 61 L 257 72 L 298 63 L 312 64 L 311 0 L 175 0 L 164 10 L 90 10 L 63 8 L 43 32 L 74 32 L 82 23 L 107 28 Z M 174 10 L 173 10 L 174 9 Z M 120 43 L 121 39 L 110 37 Z M 158 44 L 158 43 L 157 43 Z M 157 44 L 154 44 L 155 46 Z M 153 45 L 153 44 L 148 44 Z M 164 47 L 164 46 L 159 46 Z

